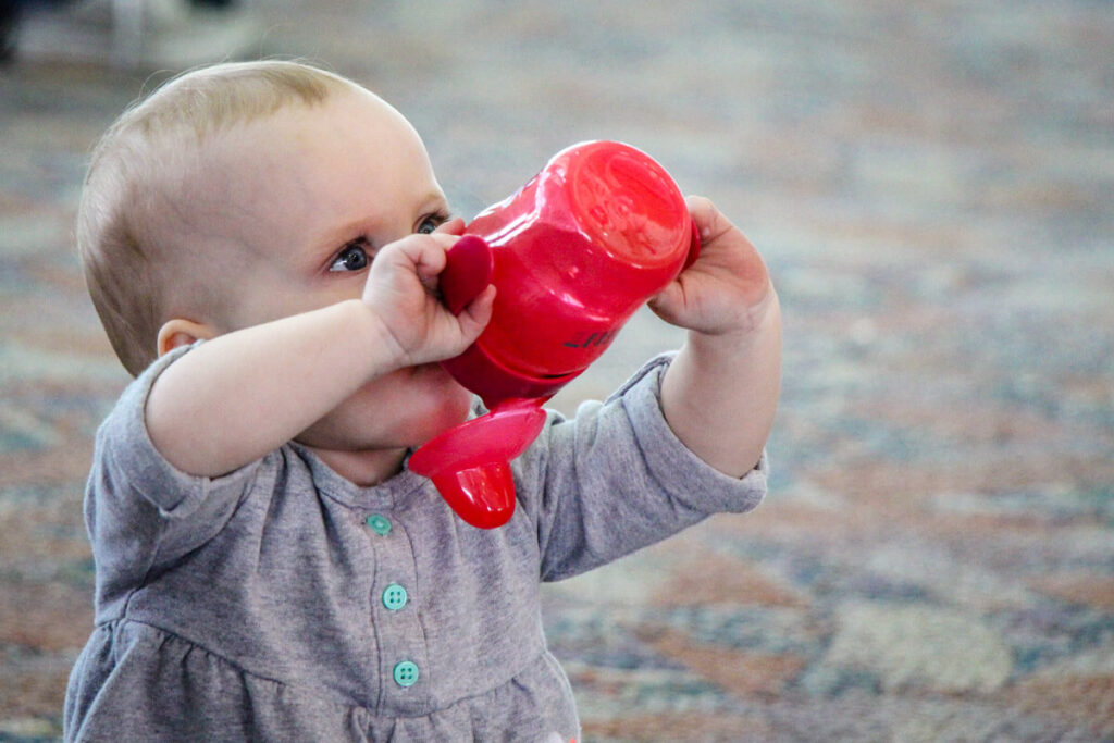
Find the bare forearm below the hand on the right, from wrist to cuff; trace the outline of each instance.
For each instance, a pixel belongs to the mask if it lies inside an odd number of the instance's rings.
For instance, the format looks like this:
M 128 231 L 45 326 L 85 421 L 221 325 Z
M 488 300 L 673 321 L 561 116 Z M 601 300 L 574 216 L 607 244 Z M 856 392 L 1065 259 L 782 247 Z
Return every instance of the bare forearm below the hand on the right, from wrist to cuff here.
M 772 293 L 746 332 L 690 332 L 662 381 L 662 409 L 677 438 L 732 477 L 758 463 L 781 387 L 781 310 Z

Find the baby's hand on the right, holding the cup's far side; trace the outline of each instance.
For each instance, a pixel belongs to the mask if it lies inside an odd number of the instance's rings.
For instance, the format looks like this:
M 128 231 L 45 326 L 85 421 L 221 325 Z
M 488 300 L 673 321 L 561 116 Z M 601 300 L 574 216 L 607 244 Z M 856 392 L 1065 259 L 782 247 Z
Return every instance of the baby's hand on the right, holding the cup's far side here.
M 712 202 L 686 201 L 700 229 L 700 257 L 649 306 L 668 323 L 709 335 L 749 333 L 774 302 L 762 256 Z

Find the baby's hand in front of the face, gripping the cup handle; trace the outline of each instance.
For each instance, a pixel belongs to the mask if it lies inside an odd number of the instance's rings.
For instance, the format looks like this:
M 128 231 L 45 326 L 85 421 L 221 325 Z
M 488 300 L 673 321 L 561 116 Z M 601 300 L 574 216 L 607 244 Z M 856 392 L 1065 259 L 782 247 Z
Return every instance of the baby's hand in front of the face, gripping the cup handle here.
M 452 315 L 437 294 L 446 251 L 459 239 L 447 231 L 409 235 L 375 254 L 363 302 L 379 317 L 399 368 L 463 352 L 491 319 L 495 286 Z

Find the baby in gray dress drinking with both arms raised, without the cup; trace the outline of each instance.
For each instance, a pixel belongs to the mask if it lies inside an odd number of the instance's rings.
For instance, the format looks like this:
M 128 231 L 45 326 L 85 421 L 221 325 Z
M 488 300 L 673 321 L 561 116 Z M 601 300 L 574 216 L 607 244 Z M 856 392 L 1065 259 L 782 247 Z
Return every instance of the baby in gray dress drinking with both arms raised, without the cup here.
M 569 741 L 539 583 L 765 492 L 781 320 L 706 199 L 700 258 L 652 301 L 690 330 L 606 402 L 548 413 L 504 527 L 405 468 L 466 420 L 438 365 L 490 317 L 438 300 L 452 218 L 393 108 L 294 62 L 184 75 L 94 153 L 89 291 L 136 375 L 86 493 L 96 627 L 67 740 Z

